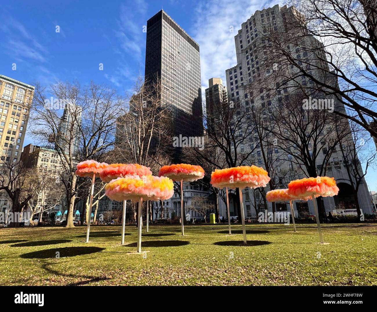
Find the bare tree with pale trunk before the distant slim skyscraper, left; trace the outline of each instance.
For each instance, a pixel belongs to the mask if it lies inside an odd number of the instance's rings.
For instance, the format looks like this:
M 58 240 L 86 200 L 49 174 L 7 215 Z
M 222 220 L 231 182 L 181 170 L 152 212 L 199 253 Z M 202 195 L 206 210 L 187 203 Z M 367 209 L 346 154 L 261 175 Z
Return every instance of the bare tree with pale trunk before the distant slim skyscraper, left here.
M 101 161 L 113 145 L 116 118 L 123 103 L 115 90 L 93 82 L 89 86 L 58 82 L 49 89 L 36 84 L 30 118 L 32 134 L 46 145 L 52 145 L 62 161 L 67 227 L 74 226 L 76 165 L 85 159 Z

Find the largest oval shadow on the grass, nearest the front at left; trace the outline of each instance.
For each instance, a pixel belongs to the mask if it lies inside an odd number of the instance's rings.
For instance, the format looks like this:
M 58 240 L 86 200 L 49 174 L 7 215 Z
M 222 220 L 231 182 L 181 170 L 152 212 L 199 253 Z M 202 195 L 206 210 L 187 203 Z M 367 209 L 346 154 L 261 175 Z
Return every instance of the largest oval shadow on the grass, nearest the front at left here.
M 20 258 L 25 259 L 48 259 L 48 258 L 55 258 L 57 253 L 59 252 L 60 257 L 74 257 L 77 255 L 87 255 L 93 254 L 95 252 L 103 251 L 105 248 L 100 247 L 62 247 L 62 248 L 51 248 L 51 249 L 44 249 L 38 250 L 33 252 L 28 252 L 27 254 L 20 255 Z

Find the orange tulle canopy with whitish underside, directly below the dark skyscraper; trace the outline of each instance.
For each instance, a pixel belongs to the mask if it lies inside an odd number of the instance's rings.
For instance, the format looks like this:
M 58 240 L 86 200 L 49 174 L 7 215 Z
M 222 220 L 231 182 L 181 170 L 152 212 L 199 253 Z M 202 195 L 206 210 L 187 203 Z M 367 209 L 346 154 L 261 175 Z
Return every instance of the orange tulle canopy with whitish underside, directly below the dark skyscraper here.
M 158 171 L 158 176 L 169 177 L 173 181 L 184 181 L 193 182 L 204 177 L 204 170 L 200 166 L 189 165 L 189 164 L 176 164 L 170 166 L 161 167 Z

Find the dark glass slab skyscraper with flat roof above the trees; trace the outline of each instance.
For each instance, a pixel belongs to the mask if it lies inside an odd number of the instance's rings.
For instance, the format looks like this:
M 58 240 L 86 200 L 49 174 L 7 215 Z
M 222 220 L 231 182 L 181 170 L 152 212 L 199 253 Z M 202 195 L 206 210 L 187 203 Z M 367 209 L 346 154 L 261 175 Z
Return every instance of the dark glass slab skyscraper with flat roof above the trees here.
M 203 134 L 199 45 L 164 11 L 147 21 L 147 81 L 161 81 L 161 102 L 171 105 L 174 135 Z

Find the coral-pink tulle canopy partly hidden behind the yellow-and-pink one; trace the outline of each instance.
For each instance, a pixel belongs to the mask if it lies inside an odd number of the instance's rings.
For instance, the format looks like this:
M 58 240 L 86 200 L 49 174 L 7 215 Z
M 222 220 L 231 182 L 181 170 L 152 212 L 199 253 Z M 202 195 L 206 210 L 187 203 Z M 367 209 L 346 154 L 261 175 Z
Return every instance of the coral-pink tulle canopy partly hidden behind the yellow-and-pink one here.
M 110 182 L 118 177 L 125 176 L 151 176 L 152 171 L 148 167 L 139 164 L 111 164 L 102 170 L 100 178 L 104 182 Z

